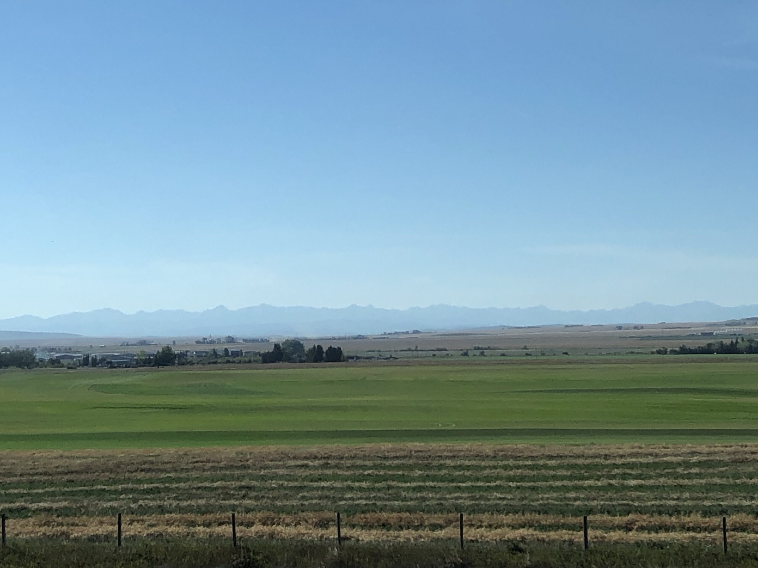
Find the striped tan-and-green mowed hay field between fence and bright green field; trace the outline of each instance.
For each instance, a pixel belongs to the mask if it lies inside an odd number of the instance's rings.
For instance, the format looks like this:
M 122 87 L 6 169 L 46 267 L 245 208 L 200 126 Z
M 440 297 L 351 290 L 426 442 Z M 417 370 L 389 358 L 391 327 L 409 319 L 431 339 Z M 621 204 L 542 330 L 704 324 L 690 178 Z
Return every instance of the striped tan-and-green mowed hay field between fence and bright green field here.
M 368 445 L 7 451 L 9 538 L 758 541 L 758 445 Z

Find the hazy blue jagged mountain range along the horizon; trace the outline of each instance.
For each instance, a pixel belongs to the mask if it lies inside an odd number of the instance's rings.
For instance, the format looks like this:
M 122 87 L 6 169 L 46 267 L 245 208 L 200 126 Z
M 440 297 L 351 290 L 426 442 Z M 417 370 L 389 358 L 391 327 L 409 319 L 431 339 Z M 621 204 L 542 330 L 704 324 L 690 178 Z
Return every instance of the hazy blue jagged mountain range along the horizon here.
M 643 302 L 613 310 L 561 311 L 536 307 L 459 307 L 437 304 L 390 310 L 374 306 L 276 307 L 261 304 L 201 312 L 139 311 L 123 314 L 106 308 L 55 317 L 20 316 L 0 320 L 14 332 L 74 333 L 89 337 L 161 337 L 189 335 L 356 335 L 407 329 L 440 330 L 550 324 L 706 322 L 758 317 L 758 305 L 722 307 L 707 301 L 666 306 Z M 11 338 L 8 333 L 6 339 Z M 2 337 L 2 335 L 0 335 Z M 31 339 L 31 338 L 30 338 Z

